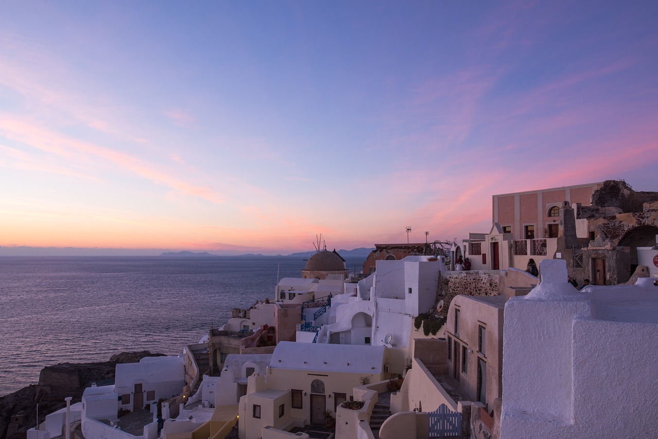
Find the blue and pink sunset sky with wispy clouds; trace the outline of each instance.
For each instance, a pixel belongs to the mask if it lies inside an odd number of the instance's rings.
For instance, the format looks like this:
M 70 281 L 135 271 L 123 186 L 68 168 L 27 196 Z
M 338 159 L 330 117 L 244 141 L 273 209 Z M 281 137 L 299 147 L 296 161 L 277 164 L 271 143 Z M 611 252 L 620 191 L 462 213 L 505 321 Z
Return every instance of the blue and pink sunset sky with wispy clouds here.
M 461 240 L 658 190 L 655 1 L 0 2 L 0 246 Z

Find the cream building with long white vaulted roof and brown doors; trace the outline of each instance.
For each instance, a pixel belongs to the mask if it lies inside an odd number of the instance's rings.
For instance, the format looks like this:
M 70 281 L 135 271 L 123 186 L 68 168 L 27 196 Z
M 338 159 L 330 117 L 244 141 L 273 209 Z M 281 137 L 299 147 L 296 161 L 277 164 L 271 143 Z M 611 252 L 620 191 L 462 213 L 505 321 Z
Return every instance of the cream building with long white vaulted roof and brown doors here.
M 261 438 L 267 426 L 324 426 L 326 413 L 335 417 L 355 387 L 388 376 L 387 361 L 385 346 L 281 342 L 265 375 L 249 377 L 240 398 L 240 438 Z

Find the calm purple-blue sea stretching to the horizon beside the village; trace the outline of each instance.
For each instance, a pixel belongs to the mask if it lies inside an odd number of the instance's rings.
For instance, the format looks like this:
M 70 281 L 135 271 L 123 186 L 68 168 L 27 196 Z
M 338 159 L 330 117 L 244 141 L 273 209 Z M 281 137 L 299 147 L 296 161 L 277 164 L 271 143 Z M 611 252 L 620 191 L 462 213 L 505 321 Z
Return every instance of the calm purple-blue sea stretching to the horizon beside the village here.
M 345 258 L 350 273 L 362 258 Z M 303 257 L 0 257 L 0 396 L 44 366 L 177 355 L 301 277 Z

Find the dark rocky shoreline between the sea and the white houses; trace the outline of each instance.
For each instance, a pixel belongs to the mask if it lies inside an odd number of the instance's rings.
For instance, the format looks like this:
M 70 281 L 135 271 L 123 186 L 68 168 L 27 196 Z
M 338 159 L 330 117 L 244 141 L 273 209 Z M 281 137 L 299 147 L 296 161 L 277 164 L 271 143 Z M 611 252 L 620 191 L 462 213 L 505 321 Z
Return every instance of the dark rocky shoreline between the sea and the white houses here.
M 85 388 L 94 381 L 114 378 L 118 363 L 137 363 L 143 357 L 162 357 L 150 351 L 122 352 L 99 363 L 60 363 L 41 369 L 39 384 L 32 384 L 0 397 L 0 439 L 25 439 L 27 430 L 42 423 L 45 415 L 82 400 Z M 37 404 L 39 420 L 37 422 Z

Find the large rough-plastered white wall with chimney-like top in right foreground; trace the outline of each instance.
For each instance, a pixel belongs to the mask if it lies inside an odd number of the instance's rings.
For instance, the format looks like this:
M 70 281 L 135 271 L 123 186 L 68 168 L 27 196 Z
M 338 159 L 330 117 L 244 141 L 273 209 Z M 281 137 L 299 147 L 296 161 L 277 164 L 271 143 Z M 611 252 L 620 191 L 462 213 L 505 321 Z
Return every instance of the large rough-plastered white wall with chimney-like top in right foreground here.
M 566 280 L 565 261 L 542 261 L 505 306 L 501 439 L 655 436 L 658 286 Z

